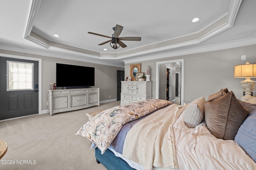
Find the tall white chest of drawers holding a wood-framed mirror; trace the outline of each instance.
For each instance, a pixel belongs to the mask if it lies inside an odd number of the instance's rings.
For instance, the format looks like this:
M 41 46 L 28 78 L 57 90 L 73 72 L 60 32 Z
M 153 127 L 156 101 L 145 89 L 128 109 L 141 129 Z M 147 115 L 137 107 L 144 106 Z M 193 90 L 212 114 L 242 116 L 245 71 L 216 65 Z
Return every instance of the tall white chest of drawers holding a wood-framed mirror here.
M 120 105 L 152 99 L 151 81 L 121 81 L 121 83 Z

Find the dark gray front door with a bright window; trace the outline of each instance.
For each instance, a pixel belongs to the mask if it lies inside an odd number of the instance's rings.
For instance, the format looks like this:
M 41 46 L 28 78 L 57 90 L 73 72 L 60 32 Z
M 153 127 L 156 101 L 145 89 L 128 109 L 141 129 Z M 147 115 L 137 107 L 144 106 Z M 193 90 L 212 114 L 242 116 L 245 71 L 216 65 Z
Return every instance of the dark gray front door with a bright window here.
M 15 75 L 7 71 L 7 61 L 11 64 L 14 63 L 13 65 L 20 63 L 17 64 L 17 66 L 19 65 L 21 67 L 19 69 L 20 71 L 16 71 L 17 69 L 15 68 Z M 24 72 L 26 70 L 26 68 L 23 69 L 25 65 L 34 67 L 31 73 L 33 75 L 32 78 L 27 78 L 28 80 L 32 79 L 31 83 L 26 82 L 27 79 L 24 78 L 30 76 L 29 69 L 27 69 L 29 70 L 28 73 L 26 71 Z M 19 79 L 16 77 L 17 74 L 21 75 L 20 79 L 22 80 L 17 80 Z M 14 79 L 22 85 L 22 88 L 13 88 L 14 85 L 12 85 L 12 80 L 9 81 L 9 76 L 15 77 Z M 38 113 L 38 61 L 0 57 L 0 82 L 0 120 Z M 27 88 L 27 84 L 30 84 L 29 88 Z M 10 90 L 10 87 L 13 89 Z M 17 87 L 16 84 L 15 87 Z

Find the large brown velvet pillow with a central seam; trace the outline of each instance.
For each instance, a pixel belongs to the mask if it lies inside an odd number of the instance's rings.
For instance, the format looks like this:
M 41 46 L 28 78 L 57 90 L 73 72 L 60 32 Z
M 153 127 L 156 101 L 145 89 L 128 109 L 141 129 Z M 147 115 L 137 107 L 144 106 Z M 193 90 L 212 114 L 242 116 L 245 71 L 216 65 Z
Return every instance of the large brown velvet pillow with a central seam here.
M 209 131 L 216 138 L 224 140 L 234 140 L 248 115 L 248 110 L 240 104 L 232 91 L 216 100 L 207 101 L 204 109 Z

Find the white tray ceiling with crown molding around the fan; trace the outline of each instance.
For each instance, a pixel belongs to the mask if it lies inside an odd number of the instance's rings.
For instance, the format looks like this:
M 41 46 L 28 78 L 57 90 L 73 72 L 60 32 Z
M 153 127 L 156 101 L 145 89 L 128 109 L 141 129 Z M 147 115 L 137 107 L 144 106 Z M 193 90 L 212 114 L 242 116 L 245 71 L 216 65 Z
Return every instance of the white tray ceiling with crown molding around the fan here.
M 123 61 L 256 44 L 255 0 L 0 2 L 0 49 L 12 51 L 124 66 Z M 195 17 L 200 21 L 192 23 Z M 88 34 L 111 37 L 116 24 L 124 27 L 120 37 L 142 40 L 112 49 L 98 45 L 108 38 Z

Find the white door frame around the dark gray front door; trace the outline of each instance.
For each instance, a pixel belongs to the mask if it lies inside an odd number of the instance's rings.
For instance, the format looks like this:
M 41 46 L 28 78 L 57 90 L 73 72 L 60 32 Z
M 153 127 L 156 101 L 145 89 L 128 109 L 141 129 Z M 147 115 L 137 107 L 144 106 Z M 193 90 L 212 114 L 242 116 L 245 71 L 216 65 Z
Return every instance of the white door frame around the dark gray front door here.
M 42 114 L 42 59 L 0 53 L 1 57 L 38 61 L 38 113 Z

